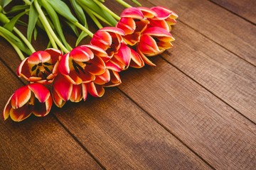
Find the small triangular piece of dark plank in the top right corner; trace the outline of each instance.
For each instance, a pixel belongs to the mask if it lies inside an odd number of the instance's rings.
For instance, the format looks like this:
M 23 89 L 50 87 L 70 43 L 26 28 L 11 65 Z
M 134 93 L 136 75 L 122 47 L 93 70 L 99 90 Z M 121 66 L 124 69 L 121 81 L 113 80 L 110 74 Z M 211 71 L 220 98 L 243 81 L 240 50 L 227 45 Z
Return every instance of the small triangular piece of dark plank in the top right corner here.
M 256 23 L 256 1 L 252 0 L 244 0 L 244 1 L 236 1 L 236 0 L 210 0 L 223 8 L 227 8 L 229 11 L 233 13 L 237 13 L 239 16 L 247 19 L 252 23 Z

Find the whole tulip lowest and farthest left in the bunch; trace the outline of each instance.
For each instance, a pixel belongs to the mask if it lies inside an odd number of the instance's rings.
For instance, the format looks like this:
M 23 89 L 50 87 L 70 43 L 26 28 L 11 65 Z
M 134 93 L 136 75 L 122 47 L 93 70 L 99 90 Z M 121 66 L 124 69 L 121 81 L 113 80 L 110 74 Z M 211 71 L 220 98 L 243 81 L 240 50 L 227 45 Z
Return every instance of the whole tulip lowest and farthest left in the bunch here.
M 28 84 L 17 89 L 4 107 L 3 117 L 14 121 L 28 118 L 31 113 L 38 117 L 48 115 L 53 104 L 50 91 L 43 84 Z

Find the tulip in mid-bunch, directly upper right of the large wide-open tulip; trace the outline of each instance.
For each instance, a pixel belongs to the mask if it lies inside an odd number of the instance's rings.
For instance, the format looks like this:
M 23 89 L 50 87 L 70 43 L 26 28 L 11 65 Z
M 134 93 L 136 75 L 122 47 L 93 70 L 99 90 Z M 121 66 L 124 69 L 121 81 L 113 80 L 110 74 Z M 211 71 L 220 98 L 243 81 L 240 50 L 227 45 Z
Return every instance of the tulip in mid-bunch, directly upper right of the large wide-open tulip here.
M 105 50 L 107 55 L 111 58 L 121 46 L 121 42 L 123 40 L 122 35 L 124 35 L 124 31 L 120 28 L 101 28 L 93 35 L 90 44 Z M 107 62 L 107 60 L 104 61 Z

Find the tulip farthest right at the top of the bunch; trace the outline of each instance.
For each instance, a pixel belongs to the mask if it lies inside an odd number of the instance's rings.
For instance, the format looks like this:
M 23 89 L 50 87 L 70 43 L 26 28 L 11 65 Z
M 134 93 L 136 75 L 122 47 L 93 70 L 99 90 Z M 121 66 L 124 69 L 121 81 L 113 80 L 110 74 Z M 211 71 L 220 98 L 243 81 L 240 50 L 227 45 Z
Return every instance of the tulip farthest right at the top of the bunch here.
M 176 18 L 178 18 L 178 15 L 174 11 L 161 6 L 154 6 L 151 10 L 156 13 L 156 16 L 149 19 L 149 25 L 152 27 L 161 27 L 170 32 L 171 26 L 177 23 Z

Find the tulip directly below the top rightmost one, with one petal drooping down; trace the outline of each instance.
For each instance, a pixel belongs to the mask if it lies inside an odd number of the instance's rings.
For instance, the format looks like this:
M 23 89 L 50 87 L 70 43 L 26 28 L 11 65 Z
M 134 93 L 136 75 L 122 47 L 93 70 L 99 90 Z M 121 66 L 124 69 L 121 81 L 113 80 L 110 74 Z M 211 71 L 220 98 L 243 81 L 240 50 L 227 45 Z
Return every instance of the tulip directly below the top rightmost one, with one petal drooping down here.
M 137 45 L 137 52 L 141 55 L 142 60 L 144 60 L 146 64 L 154 66 L 146 57 L 161 54 L 161 52 L 173 46 L 171 42 L 174 40 L 171 33 L 164 28 L 150 27 L 142 34 Z

